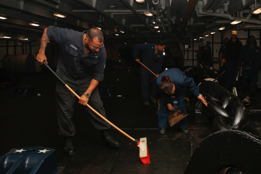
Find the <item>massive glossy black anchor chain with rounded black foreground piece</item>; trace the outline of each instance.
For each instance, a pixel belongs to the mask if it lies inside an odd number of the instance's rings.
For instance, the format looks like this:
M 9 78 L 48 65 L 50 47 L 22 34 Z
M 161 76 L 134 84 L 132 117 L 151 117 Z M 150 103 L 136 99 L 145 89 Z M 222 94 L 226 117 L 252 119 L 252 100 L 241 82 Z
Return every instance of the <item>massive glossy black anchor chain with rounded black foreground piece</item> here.
M 184 174 L 260 173 L 261 122 L 248 121 L 249 101 L 213 81 L 201 81 L 200 92 L 208 102 L 196 107 L 212 121 L 213 134 L 195 149 Z

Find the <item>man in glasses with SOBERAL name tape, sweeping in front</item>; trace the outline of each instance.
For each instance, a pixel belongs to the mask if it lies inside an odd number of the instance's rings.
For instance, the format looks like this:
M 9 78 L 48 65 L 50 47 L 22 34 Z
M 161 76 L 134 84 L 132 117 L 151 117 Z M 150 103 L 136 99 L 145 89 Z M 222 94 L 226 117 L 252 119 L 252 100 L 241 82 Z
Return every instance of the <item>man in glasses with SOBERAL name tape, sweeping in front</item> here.
M 120 142 L 109 134 L 110 124 L 86 106 L 88 103 L 106 118 L 103 102 L 98 91 L 98 84 L 104 77 L 106 62 L 103 33 L 98 28 L 78 32 L 72 29 L 49 26 L 44 29 L 39 54 L 37 55 L 37 60 L 41 64 L 43 64 L 43 61 L 47 63 L 45 48 L 50 39 L 60 45 L 56 74 L 74 92 L 79 94 L 81 99 L 78 103 L 84 106 L 86 116 L 90 119 L 94 128 L 101 131 L 102 142 L 112 148 L 119 147 Z M 72 117 L 75 95 L 59 80 L 56 81 L 56 103 L 58 133 L 64 137 L 63 152 L 67 156 L 73 156 L 75 152 L 72 137 L 75 135 L 75 128 Z

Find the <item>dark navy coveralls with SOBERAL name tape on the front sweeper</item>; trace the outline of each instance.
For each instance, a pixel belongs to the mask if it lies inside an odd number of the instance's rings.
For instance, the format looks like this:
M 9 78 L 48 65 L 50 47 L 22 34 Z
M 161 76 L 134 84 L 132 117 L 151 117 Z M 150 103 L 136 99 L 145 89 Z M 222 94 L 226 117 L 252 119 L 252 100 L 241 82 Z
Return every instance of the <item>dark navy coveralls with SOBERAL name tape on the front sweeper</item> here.
M 102 47 L 98 52 L 89 52 L 84 55 L 83 35 L 72 29 L 49 26 L 47 35 L 60 45 L 60 53 L 56 74 L 73 89 L 78 95 L 84 94 L 92 79 L 103 80 L 106 62 L 106 51 Z M 56 103 L 58 133 L 63 137 L 75 135 L 72 122 L 75 96 L 59 80 L 56 81 Z M 106 118 L 103 102 L 100 99 L 98 87 L 91 93 L 88 104 Z M 105 122 L 87 106 L 84 106 L 87 116 L 97 130 L 109 129 L 110 124 Z

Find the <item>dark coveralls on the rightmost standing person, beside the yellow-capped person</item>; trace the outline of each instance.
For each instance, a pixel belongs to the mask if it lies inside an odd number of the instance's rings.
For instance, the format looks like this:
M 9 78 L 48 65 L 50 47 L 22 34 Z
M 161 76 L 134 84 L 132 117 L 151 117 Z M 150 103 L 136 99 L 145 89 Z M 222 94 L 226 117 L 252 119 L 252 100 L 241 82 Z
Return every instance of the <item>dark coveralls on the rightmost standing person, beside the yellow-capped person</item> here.
M 258 69 L 261 65 L 261 52 L 257 45 L 253 49 L 249 44 L 242 47 L 238 67 L 242 66 L 242 88 L 246 90 L 248 87 L 248 80 L 250 79 L 250 94 L 255 95 L 257 92 L 257 77 Z

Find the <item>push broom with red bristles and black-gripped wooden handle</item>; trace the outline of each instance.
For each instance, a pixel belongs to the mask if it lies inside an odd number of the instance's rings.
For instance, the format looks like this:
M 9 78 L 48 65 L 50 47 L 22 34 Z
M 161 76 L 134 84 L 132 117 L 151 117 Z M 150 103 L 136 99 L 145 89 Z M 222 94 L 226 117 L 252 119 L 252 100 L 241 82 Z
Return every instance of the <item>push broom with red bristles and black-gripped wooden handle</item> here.
M 43 62 L 43 64 L 51 71 L 52 74 L 54 74 L 58 80 L 60 80 L 78 99 L 81 99 L 81 97 L 76 94 L 46 63 L 45 61 Z M 112 127 L 114 127 L 115 129 L 117 129 L 118 131 L 120 131 L 123 135 L 127 136 L 129 139 L 131 139 L 132 141 L 134 141 L 137 146 L 139 147 L 139 157 L 140 160 L 143 164 L 150 164 L 150 154 L 149 154 L 149 149 L 147 147 L 147 138 L 140 138 L 140 140 L 138 139 L 134 139 L 133 137 L 129 136 L 128 134 L 126 134 L 124 131 L 122 131 L 120 128 L 118 128 L 117 126 L 115 126 L 113 123 L 111 123 L 108 119 L 106 119 L 105 117 L 103 117 L 99 112 L 97 112 L 95 109 L 93 109 L 90 105 L 86 104 L 86 106 L 88 108 L 90 108 L 94 113 L 96 113 L 99 117 L 101 117 L 104 121 L 106 121 L 107 123 L 109 123 Z

